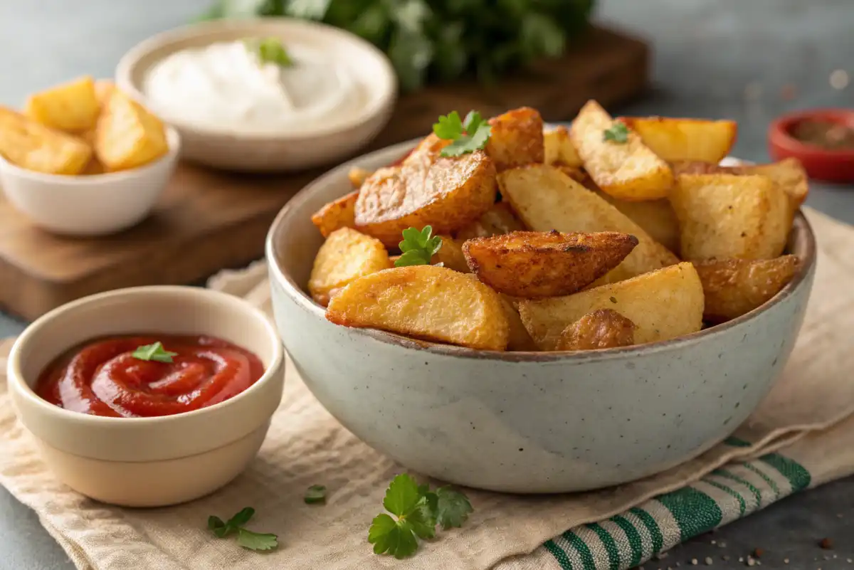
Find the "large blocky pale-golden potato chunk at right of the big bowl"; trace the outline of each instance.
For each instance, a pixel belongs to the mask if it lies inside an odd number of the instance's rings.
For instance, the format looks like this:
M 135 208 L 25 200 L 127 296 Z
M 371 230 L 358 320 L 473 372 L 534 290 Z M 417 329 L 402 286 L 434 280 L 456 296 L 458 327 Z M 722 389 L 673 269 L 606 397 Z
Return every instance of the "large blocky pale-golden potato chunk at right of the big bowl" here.
M 670 203 L 682 259 L 771 259 L 786 247 L 791 211 L 769 177 L 681 174 Z

